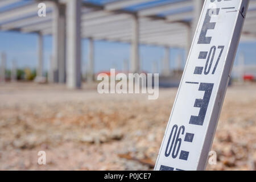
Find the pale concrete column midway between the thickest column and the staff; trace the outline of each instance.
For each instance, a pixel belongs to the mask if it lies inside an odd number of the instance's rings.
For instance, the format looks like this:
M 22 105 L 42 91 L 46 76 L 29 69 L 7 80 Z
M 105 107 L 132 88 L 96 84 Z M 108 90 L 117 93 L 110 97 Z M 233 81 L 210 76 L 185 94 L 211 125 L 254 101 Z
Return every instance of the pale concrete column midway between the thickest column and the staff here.
M 133 16 L 132 38 L 131 38 L 131 73 L 139 73 L 139 20 Z

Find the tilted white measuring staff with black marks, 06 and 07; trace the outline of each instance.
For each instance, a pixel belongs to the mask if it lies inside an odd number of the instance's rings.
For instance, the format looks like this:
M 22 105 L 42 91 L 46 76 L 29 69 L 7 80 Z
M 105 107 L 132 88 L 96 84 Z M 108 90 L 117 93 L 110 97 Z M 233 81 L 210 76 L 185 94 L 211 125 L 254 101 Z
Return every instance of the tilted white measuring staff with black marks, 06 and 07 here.
M 204 2 L 155 170 L 205 169 L 248 4 Z

